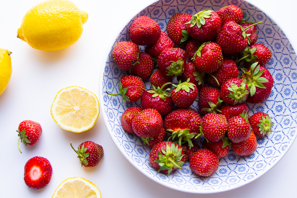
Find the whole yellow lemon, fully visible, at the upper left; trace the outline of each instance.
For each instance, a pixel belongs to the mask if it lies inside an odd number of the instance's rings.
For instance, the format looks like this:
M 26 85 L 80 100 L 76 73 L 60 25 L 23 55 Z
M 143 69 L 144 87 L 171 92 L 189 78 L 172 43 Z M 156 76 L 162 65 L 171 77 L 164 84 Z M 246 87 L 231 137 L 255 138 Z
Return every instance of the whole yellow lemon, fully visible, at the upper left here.
M 37 50 L 61 50 L 79 39 L 87 19 L 70 1 L 43 1 L 25 14 L 17 37 Z

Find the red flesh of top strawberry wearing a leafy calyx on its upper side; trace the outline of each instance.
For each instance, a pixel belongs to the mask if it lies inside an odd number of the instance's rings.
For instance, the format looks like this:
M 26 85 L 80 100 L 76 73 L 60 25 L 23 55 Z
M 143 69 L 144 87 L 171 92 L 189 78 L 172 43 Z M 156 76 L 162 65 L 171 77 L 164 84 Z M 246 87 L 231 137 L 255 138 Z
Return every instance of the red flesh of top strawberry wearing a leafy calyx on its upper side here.
M 211 12 L 210 18 L 205 18 L 205 24 L 198 28 L 197 25 L 193 27 L 188 24 L 187 31 L 191 37 L 200 41 L 208 42 L 214 41 L 221 29 L 221 18 L 216 12 Z

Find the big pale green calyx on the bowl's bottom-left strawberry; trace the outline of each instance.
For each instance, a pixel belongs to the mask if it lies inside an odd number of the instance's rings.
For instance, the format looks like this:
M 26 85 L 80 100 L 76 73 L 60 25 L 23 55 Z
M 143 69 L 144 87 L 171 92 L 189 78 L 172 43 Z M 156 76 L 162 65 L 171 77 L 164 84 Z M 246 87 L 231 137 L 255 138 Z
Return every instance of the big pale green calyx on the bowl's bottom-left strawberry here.
M 166 151 L 162 148 L 162 153 L 158 153 L 159 159 L 154 160 L 160 166 L 159 171 L 168 170 L 168 175 L 172 172 L 173 168 L 181 169 L 181 166 L 184 165 L 184 161 L 181 161 L 184 155 L 181 154 L 182 148 L 178 149 L 178 145 L 171 144 L 169 146 L 166 144 Z

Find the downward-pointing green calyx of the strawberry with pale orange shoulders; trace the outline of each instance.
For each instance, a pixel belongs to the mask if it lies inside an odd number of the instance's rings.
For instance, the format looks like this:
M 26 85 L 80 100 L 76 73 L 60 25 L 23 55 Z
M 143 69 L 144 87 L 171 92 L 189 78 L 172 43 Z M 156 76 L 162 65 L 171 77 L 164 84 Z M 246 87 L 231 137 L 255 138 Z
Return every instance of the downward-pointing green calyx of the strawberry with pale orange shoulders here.
M 192 143 L 191 139 L 193 137 L 195 137 L 196 135 L 198 135 L 197 133 L 189 134 L 190 129 L 183 129 L 183 130 L 176 130 L 176 131 L 173 131 L 172 129 L 167 129 L 167 131 L 170 131 L 171 134 L 172 134 L 168 138 L 168 141 L 170 139 L 172 139 L 174 143 L 176 143 L 176 144 L 178 144 L 180 146 L 181 146 L 182 143 L 188 142 L 188 145 L 189 145 L 190 148 L 193 147 L 193 143 Z

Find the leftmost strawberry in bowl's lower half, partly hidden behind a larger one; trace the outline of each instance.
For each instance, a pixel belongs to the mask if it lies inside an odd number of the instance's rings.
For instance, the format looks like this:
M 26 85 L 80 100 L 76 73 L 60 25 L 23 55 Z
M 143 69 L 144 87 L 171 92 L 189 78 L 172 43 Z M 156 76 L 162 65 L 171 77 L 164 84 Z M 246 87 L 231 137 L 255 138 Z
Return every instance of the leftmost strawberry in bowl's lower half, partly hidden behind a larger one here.
M 130 107 L 126 109 L 121 116 L 122 127 L 129 133 L 134 133 L 132 129 L 132 120 L 142 111 L 140 107 Z

